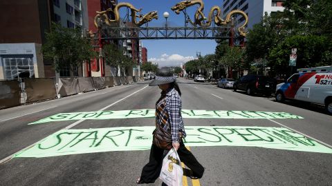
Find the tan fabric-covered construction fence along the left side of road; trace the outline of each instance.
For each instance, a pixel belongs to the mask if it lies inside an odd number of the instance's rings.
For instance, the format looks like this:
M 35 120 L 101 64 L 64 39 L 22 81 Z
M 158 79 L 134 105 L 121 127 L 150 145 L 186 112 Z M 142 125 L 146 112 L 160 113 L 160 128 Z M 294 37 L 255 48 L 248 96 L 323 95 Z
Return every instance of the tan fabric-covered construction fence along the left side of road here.
M 107 76 L 0 81 L 0 109 L 139 81 L 144 80 L 138 76 Z

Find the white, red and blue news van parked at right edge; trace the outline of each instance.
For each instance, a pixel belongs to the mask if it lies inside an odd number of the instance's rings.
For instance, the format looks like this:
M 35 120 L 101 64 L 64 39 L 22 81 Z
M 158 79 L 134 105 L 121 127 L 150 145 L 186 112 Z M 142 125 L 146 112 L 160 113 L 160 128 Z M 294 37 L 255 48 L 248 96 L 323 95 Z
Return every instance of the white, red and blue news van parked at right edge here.
M 325 105 L 326 112 L 332 115 L 332 66 L 298 69 L 276 87 L 275 100 L 285 99 Z

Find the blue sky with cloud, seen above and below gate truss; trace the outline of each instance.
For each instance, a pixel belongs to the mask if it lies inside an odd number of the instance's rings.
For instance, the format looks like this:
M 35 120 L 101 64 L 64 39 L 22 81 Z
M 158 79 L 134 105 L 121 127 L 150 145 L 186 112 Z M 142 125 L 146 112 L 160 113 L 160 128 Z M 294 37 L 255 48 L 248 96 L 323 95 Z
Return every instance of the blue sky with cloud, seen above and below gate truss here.
M 183 14 L 175 14 L 171 7 L 181 0 L 119 0 L 120 2 L 127 2 L 133 4 L 136 8 L 142 8 L 142 13 L 157 10 L 158 20 L 154 19 L 149 23 L 151 27 L 161 27 L 165 25 L 165 18 L 163 12 L 169 12 L 169 18 L 167 19 L 167 25 L 169 27 L 181 27 L 184 26 Z M 205 0 L 204 13 L 208 14 L 208 11 L 212 6 L 221 6 L 221 0 Z M 123 8 L 124 9 L 124 8 Z M 194 12 L 196 6 L 192 6 L 187 9 L 191 19 L 194 20 Z M 125 13 L 120 12 L 120 16 L 124 17 Z M 212 54 L 216 48 L 216 41 L 210 39 L 160 39 L 160 40 L 142 40 L 143 47 L 147 48 L 148 61 L 158 63 L 159 67 L 180 65 L 196 57 L 196 52 L 201 52 L 201 55 Z

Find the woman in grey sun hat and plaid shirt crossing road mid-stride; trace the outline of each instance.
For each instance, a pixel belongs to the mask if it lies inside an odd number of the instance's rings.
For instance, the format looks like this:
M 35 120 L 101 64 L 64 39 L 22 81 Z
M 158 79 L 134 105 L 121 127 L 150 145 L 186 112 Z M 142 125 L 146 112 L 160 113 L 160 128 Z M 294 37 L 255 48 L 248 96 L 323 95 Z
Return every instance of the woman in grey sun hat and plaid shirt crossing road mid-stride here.
M 164 150 L 172 147 L 178 152 L 181 162 L 190 168 L 184 169 L 183 175 L 192 179 L 201 178 L 204 167 L 183 144 L 182 138 L 185 138 L 186 134 L 181 116 L 181 91 L 176 79 L 171 72 L 162 71 L 149 83 L 149 86 L 155 85 L 162 90 L 160 99 L 156 102 L 156 130 L 153 133 L 149 163 L 143 167 L 136 183 L 154 183 L 163 165 Z

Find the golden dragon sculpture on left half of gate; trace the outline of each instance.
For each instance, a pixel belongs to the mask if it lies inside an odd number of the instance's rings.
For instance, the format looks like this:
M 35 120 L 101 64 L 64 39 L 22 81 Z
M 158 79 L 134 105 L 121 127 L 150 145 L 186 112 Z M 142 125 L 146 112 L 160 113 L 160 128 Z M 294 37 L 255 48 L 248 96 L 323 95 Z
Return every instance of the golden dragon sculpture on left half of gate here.
M 141 12 L 142 8 L 137 9 L 131 3 L 118 3 L 118 5 L 116 5 L 116 7 L 113 10 L 111 10 L 111 8 L 109 8 L 109 9 L 101 11 L 101 12 L 97 11 L 97 15 L 95 16 L 95 27 L 98 27 L 98 19 L 101 19 L 107 25 L 111 25 L 112 22 L 120 22 L 119 10 L 122 7 L 127 7 L 131 10 L 131 21 L 136 26 L 143 25 L 143 24 L 151 21 L 152 19 L 158 19 L 157 11 L 151 11 L 147 14 L 138 15 L 137 13 Z M 115 19 L 109 19 L 109 17 L 107 16 L 107 14 L 109 14 L 109 12 L 114 13 Z M 137 18 L 140 18 L 139 21 L 136 20 Z

